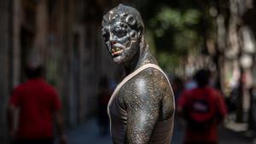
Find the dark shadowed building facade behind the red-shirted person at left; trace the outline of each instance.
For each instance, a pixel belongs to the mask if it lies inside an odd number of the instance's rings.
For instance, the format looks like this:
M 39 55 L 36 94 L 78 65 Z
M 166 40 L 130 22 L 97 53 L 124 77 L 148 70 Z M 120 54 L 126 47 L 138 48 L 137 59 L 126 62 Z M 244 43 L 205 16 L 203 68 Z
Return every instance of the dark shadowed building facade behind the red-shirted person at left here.
M 38 60 L 61 95 L 67 124 L 96 110 L 98 80 L 119 72 L 102 43 L 102 15 L 117 1 L 1 0 L 0 143 L 7 140 L 9 95 L 26 80 L 24 68 Z

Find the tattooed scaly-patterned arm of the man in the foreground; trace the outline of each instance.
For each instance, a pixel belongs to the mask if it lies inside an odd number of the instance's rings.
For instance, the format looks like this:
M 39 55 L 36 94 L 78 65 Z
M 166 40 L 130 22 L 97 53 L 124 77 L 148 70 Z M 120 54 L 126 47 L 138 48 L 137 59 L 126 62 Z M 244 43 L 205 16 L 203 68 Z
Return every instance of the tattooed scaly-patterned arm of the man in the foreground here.
M 161 80 L 154 72 L 143 71 L 125 85 L 123 107 L 127 112 L 125 143 L 148 144 L 162 114 Z M 159 75 L 159 73 L 158 73 Z

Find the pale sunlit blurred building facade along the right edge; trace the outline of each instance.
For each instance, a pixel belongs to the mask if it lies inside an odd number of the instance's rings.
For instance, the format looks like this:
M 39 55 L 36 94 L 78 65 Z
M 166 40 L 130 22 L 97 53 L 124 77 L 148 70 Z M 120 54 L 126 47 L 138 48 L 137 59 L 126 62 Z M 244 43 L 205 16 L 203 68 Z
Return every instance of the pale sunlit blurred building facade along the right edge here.
M 229 0 L 216 3 L 215 60 L 221 89 L 236 98 L 236 122 L 247 122 L 250 89 L 255 87 L 255 1 Z M 236 90 L 236 95 L 232 91 Z

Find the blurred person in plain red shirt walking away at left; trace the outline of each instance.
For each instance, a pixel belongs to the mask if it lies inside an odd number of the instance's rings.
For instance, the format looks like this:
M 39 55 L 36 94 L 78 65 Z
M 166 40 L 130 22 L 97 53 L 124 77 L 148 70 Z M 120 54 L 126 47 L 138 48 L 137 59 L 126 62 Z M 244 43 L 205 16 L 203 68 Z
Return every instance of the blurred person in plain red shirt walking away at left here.
M 27 66 L 27 81 L 17 86 L 9 99 L 9 135 L 15 144 L 53 144 L 53 119 L 61 144 L 67 143 L 63 133 L 61 101 L 55 89 L 41 77 L 43 66 Z M 15 129 L 15 113 L 18 125 Z

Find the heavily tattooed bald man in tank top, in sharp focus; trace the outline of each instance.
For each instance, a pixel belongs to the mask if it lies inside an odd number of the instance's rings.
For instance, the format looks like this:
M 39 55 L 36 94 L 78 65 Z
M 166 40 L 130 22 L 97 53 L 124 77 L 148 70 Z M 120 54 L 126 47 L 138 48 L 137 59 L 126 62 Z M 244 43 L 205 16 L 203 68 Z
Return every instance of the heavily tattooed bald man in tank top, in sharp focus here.
M 150 54 L 137 9 L 119 4 L 103 16 L 102 35 L 113 61 L 127 76 L 108 103 L 114 144 L 170 144 L 172 87 Z

